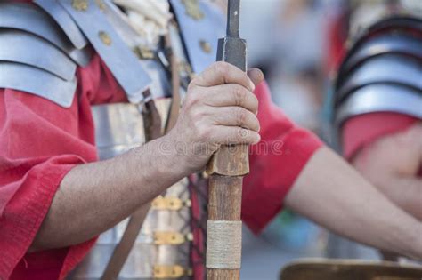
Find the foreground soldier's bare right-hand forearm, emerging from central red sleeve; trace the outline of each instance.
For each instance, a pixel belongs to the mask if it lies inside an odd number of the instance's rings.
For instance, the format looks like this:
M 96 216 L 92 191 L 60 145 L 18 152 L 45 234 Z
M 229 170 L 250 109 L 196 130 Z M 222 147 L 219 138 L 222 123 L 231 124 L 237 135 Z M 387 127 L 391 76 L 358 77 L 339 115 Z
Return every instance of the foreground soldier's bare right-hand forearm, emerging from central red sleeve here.
M 286 204 L 340 235 L 422 259 L 422 224 L 328 148 L 312 156 Z

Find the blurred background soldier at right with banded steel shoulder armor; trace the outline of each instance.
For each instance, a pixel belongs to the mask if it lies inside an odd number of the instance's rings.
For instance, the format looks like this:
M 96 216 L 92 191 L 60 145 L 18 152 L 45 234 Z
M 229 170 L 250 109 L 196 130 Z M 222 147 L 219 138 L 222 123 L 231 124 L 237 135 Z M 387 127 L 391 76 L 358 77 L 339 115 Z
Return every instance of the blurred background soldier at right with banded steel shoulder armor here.
M 418 1 L 357 3 L 334 89 L 334 143 L 363 176 L 420 220 L 421 6 Z M 359 257 L 356 251 L 340 252 L 356 247 L 341 238 L 332 236 L 330 244 L 331 256 Z

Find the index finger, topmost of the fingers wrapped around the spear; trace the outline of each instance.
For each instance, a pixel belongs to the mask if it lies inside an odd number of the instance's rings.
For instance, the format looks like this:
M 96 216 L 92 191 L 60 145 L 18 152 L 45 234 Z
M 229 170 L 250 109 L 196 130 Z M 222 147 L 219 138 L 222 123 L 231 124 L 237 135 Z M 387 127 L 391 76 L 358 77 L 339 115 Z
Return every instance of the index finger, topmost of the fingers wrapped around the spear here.
M 245 72 L 223 61 L 215 62 L 205 69 L 204 72 L 192 80 L 191 84 L 203 87 L 219 84 L 239 84 L 248 88 L 251 92 L 255 90 L 255 84 L 252 83 Z

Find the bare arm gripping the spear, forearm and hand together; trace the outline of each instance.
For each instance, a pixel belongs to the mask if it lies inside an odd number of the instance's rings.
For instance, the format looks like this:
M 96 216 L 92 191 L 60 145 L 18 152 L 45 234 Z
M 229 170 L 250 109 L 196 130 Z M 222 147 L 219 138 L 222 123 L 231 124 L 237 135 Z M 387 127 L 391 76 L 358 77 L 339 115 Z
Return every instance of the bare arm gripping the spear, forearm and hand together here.
M 256 84 L 263 78 L 251 74 Z M 207 68 L 191 82 L 181 116 L 165 137 L 107 161 L 77 166 L 65 176 L 30 249 L 85 242 L 139 207 L 148 211 L 154 197 L 201 170 L 221 144 L 259 141 L 254 87 L 227 63 Z

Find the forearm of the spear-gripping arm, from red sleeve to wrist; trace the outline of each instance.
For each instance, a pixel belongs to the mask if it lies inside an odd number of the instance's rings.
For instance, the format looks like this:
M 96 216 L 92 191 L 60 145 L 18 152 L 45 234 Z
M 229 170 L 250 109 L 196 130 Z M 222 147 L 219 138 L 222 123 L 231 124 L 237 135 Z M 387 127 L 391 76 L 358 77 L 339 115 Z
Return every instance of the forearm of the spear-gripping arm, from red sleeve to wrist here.
M 122 156 L 73 168 L 61 181 L 31 250 L 79 244 L 140 207 L 148 211 L 153 198 L 186 175 L 168 141 L 161 138 Z

